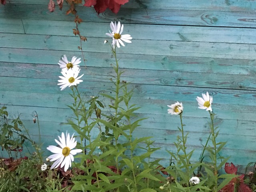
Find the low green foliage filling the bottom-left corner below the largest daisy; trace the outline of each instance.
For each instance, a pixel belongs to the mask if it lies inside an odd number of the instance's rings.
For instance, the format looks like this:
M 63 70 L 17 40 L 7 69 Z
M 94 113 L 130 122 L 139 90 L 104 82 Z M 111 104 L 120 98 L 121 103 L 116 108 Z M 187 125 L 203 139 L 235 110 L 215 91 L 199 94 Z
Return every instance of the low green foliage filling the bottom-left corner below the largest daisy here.
M 0 168 L 1 192 L 64 192 L 62 180 L 55 172 L 40 169 L 38 156 L 13 161 L 12 166 Z

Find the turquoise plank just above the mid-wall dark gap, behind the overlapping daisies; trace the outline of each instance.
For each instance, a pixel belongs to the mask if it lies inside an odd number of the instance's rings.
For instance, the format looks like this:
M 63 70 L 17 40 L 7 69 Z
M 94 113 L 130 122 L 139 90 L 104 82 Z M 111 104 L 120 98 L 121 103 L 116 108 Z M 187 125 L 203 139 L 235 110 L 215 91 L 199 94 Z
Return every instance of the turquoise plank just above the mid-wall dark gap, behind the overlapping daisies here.
M 46 79 L 55 79 L 60 76 L 60 68 L 58 66 L 50 67 L 49 65 L 16 63 L 0 63 L 0 66 L 3 72 L 0 73 L 0 76 Z M 88 67 L 82 71 L 85 73 L 83 77 L 85 82 L 98 82 L 99 80 L 101 82 L 109 82 L 109 78 L 113 74 L 112 68 L 102 67 Z M 256 90 L 254 75 L 227 74 L 225 71 L 214 73 L 126 69 L 122 79 L 127 82 L 136 80 L 136 84 Z

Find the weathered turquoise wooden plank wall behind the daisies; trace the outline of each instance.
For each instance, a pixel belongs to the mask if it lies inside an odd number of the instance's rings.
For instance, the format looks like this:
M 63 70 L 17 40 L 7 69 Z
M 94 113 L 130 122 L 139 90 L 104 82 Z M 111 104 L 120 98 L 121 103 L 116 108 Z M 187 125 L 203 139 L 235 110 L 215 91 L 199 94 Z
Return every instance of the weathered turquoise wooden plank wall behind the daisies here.
M 0 6 L 0 103 L 20 115 L 38 138 L 33 112 L 39 114 L 44 147 L 53 144 L 63 122 L 72 115 L 68 90 L 57 86 L 62 55 L 82 57 L 79 38 L 72 34 L 74 16 L 68 6 L 50 13 L 48 0 L 10 0 Z M 220 128 L 218 140 L 229 162 L 256 161 L 256 0 L 130 0 L 118 14 L 79 6 L 79 29 L 87 69 L 80 89 L 96 95 L 109 92 L 112 54 L 104 40 L 110 21 L 124 24 L 132 43 L 118 50 L 122 80 L 131 81 L 132 102 L 148 118 L 137 137 L 153 136 L 162 147 L 154 157 L 172 150 L 180 120 L 167 114 L 176 101 L 184 105 L 188 149 L 197 160 L 209 135 L 209 114 L 198 109 L 196 96 L 208 91 Z M 82 63 L 81 63 L 82 64 Z

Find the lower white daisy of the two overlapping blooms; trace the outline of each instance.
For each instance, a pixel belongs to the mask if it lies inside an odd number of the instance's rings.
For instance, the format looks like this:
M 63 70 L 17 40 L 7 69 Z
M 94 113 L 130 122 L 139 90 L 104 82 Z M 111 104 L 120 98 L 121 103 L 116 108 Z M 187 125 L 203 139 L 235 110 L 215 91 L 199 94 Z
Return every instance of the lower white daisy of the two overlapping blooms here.
M 61 74 L 63 76 L 59 76 L 59 78 L 61 78 L 61 80 L 58 80 L 58 85 L 61 85 L 61 91 L 64 90 L 67 86 L 73 86 L 73 85 L 77 85 L 80 82 L 83 82 L 83 80 L 80 80 L 80 78 L 84 75 L 82 74 L 81 76 L 78 77 L 78 74 L 80 72 L 80 69 L 78 71 L 68 71 L 68 72 L 64 72 L 62 71 Z

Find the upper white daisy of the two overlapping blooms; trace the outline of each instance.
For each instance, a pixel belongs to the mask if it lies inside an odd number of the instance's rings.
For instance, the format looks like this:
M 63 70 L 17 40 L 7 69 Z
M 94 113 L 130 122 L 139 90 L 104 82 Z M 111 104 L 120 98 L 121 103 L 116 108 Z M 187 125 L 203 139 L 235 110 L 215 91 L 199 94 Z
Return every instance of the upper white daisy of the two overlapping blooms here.
M 68 61 L 66 55 L 62 57 L 62 60 L 59 60 L 58 64 L 60 65 L 60 68 L 62 68 L 62 71 L 67 72 L 70 70 L 77 71 L 79 70 L 80 59 L 76 59 L 76 57 L 72 57 L 71 62 Z

